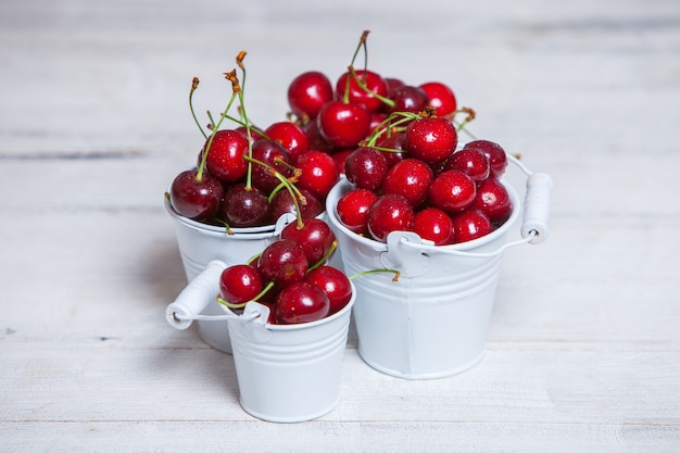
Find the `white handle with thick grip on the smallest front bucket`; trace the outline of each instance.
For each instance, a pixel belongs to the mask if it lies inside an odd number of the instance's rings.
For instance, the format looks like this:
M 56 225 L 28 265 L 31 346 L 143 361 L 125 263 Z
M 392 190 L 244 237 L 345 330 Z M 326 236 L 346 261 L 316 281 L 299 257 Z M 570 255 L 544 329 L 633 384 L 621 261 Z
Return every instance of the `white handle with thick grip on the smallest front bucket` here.
M 209 303 L 213 302 L 219 292 L 218 282 L 222 272 L 227 264 L 213 260 L 199 275 L 181 290 L 173 303 L 165 309 L 165 319 L 177 330 L 185 330 L 193 320 L 225 320 L 239 319 L 266 324 L 269 318 L 269 307 L 256 302 L 249 302 L 242 315 L 225 312 L 224 315 L 201 315 Z

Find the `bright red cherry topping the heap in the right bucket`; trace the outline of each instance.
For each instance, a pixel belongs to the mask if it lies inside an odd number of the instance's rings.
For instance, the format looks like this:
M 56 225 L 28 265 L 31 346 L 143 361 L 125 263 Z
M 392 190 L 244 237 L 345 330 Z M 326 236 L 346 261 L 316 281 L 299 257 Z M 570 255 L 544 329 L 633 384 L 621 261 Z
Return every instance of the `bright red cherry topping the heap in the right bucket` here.
M 404 147 L 411 155 L 428 164 L 442 162 L 451 156 L 458 143 L 453 123 L 446 118 L 424 117 L 408 124 Z

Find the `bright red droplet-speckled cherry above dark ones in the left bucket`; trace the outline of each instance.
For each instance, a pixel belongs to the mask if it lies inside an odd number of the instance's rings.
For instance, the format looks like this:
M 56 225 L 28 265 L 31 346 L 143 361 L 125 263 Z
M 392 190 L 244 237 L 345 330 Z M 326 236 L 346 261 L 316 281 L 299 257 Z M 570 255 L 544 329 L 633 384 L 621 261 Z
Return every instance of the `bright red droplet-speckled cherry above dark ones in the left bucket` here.
M 212 142 L 211 142 L 212 138 Z M 205 165 L 207 172 L 223 183 L 234 183 L 245 176 L 248 162 L 243 159 L 248 154 L 248 139 L 238 130 L 217 130 L 207 139 L 210 144 Z

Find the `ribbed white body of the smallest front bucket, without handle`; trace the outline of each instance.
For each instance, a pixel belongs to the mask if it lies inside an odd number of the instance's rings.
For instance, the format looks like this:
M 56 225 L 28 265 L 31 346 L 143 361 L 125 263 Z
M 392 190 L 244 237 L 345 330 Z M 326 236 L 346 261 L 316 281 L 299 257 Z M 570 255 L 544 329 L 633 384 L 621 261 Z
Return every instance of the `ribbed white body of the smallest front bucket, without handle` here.
M 340 312 L 313 323 L 229 319 L 241 407 L 276 423 L 306 421 L 332 411 L 340 400 L 354 300 L 355 295 Z

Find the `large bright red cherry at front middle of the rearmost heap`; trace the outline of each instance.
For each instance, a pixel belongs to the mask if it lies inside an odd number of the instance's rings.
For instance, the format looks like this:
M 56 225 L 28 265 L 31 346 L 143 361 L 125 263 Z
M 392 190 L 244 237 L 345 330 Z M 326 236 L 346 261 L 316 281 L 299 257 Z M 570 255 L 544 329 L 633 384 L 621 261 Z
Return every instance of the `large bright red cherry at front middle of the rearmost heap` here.
M 370 114 L 363 104 L 342 101 L 324 104 L 316 121 L 322 137 L 338 148 L 355 147 L 370 127 Z

